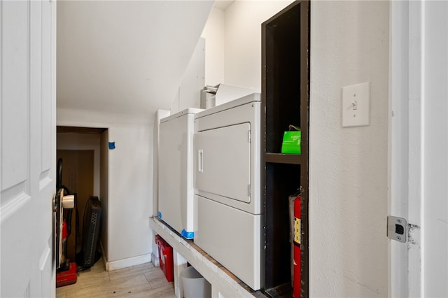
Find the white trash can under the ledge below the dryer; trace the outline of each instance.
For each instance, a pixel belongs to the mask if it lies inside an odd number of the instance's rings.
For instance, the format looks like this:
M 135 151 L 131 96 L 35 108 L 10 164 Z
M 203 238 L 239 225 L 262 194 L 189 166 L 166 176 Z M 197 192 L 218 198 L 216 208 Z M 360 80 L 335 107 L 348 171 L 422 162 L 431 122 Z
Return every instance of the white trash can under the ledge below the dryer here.
M 192 266 L 181 271 L 183 297 L 185 298 L 210 298 L 211 285 Z

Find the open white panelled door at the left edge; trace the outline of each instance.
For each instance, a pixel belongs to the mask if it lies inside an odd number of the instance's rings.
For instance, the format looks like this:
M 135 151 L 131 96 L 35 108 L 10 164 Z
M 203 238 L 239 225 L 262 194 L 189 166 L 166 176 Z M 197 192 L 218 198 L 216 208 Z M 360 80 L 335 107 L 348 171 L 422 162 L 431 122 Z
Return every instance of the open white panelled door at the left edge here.
M 1 297 L 54 297 L 55 2 L 1 1 Z

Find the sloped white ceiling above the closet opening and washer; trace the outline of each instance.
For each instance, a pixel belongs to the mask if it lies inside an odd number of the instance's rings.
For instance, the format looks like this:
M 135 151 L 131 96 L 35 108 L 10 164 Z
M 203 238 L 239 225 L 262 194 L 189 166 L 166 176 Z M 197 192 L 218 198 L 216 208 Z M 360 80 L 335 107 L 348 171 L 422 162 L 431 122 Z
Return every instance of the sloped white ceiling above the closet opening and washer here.
M 218 1 L 226 9 L 232 1 Z M 58 1 L 57 108 L 169 108 L 213 1 Z

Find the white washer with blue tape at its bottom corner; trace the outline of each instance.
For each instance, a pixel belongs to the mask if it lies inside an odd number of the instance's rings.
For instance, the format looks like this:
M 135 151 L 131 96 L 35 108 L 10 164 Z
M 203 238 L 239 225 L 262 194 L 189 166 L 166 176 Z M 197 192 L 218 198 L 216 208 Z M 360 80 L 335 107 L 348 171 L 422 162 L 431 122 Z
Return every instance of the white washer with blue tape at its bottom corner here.
M 186 239 L 195 236 L 193 134 L 200 111 L 188 108 L 160 120 L 158 215 Z

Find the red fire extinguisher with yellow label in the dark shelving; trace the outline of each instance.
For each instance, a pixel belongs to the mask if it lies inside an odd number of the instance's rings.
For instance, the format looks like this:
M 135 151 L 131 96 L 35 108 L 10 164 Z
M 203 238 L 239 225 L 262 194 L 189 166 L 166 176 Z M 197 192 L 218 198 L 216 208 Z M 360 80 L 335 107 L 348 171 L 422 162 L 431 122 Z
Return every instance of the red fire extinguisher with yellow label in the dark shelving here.
M 300 197 L 296 197 L 294 200 L 294 280 L 293 280 L 293 297 L 300 297 L 300 214 L 301 214 L 301 204 Z

